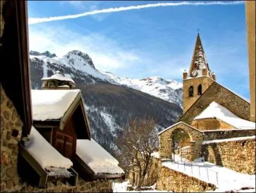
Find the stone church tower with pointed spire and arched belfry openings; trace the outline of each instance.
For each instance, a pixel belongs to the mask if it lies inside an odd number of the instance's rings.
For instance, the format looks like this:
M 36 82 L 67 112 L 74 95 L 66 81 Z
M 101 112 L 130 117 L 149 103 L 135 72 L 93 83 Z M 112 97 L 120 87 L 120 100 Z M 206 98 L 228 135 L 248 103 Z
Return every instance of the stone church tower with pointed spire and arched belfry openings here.
M 185 70 L 183 73 L 183 113 L 186 113 L 215 80 L 216 76 L 209 69 L 198 33 L 189 72 Z

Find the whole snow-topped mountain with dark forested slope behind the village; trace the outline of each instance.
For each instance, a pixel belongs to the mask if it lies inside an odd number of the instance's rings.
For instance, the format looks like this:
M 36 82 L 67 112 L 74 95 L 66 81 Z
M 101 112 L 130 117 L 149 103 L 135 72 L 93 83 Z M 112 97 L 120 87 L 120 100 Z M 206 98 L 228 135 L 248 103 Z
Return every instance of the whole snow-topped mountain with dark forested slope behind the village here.
M 122 133 L 131 118 L 155 118 L 161 131 L 182 114 L 182 84 L 174 80 L 120 78 L 99 71 L 88 54 L 77 50 L 63 57 L 31 51 L 30 62 L 32 89 L 41 89 L 41 78 L 57 70 L 76 82 L 93 138 L 107 150 L 116 149 L 116 134 Z

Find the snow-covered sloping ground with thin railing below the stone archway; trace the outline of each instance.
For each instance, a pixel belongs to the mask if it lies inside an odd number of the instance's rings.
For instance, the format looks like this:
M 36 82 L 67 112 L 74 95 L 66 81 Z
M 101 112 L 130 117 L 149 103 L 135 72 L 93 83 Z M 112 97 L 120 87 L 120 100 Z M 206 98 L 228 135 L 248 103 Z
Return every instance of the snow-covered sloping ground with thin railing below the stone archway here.
M 179 155 L 175 155 L 175 157 L 175 160 L 180 160 Z M 182 158 L 182 162 L 166 161 L 162 165 L 216 185 L 217 189 L 214 192 L 240 190 L 243 187 L 255 189 L 255 175 L 238 173 L 232 169 L 217 166 L 210 162 L 202 162 L 201 159 L 189 162 Z

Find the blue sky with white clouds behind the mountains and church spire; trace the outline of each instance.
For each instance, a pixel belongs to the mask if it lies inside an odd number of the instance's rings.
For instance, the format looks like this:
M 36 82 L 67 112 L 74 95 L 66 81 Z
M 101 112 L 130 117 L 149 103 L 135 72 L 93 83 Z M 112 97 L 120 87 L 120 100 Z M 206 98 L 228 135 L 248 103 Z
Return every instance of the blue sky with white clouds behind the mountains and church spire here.
M 28 13 L 29 18 L 49 18 L 180 2 L 184 1 L 28 1 Z M 182 82 L 182 71 L 189 69 L 199 28 L 217 82 L 250 99 L 244 3 L 192 4 L 196 2 L 31 24 L 29 49 L 49 50 L 58 56 L 81 50 L 102 71 L 131 78 L 161 76 Z

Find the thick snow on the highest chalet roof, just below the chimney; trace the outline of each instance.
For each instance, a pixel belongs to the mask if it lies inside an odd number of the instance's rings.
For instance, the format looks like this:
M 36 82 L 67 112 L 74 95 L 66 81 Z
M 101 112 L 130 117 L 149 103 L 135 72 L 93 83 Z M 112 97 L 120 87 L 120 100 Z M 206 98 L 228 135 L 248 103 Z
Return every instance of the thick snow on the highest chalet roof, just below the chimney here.
M 31 90 L 33 120 L 63 117 L 81 90 Z

